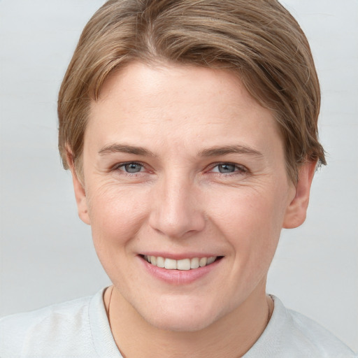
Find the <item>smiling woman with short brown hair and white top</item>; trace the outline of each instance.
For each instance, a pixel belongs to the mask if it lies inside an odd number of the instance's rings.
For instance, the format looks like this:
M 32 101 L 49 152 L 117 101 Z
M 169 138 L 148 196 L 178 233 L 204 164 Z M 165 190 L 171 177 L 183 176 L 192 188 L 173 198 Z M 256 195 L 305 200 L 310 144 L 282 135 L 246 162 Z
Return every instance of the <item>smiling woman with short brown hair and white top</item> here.
M 62 83 L 59 150 L 113 286 L 3 319 L 1 357 L 354 357 L 266 294 L 325 164 L 319 108 L 277 1 L 105 3 Z

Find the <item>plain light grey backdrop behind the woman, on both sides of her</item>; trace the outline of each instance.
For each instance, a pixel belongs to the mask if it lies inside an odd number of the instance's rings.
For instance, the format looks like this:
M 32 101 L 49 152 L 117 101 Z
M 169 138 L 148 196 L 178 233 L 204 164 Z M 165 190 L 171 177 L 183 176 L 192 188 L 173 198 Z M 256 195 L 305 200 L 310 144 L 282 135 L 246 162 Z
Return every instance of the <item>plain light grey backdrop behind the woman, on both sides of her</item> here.
M 101 0 L 0 0 L 0 315 L 110 282 L 57 153 L 59 85 Z M 303 227 L 282 233 L 268 292 L 358 350 L 358 1 L 282 0 L 322 84 L 317 173 Z

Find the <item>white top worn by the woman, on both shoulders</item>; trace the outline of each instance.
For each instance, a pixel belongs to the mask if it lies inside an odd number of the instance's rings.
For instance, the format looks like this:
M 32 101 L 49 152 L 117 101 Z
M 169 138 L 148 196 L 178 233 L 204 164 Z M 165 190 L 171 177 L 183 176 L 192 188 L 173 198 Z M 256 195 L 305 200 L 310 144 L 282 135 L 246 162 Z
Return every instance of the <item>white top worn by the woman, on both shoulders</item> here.
M 358 357 L 319 324 L 272 297 L 271 320 L 245 358 Z M 92 297 L 2 318 L 0 357 L 122 358 L 108 324 L 103 289 Z

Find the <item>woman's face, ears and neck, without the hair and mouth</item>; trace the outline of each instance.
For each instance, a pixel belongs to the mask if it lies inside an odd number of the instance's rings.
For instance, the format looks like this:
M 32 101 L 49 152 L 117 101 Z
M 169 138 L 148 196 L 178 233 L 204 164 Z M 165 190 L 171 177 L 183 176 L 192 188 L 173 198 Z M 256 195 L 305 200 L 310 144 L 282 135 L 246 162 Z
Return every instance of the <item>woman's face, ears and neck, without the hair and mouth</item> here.
M 272 113 L 227 71 L 132 62 L 92 103 L 83 178 L 71 169 L 78 213 L 113 282 L 122 355 L 245 354 L 273 308 L 266 275 L 280 230 L 305 220 L 315 170 L 309 162 L 297 185 L 289 180 Z M 147 252 L 223 258 L 175 285 L 144 269 Z

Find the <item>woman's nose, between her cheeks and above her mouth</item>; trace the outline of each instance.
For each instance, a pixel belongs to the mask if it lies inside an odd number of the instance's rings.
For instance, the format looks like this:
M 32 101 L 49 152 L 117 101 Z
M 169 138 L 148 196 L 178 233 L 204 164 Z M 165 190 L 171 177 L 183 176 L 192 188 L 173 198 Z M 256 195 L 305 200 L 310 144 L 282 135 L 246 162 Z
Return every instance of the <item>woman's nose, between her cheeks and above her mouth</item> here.
M 164 178 L 152 196 L 149 224 L 170 238 L 185 238 L 202 231 L 206 217 L 199 189 L 189 178 Z

